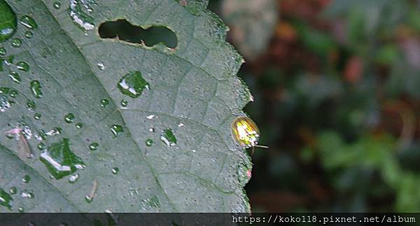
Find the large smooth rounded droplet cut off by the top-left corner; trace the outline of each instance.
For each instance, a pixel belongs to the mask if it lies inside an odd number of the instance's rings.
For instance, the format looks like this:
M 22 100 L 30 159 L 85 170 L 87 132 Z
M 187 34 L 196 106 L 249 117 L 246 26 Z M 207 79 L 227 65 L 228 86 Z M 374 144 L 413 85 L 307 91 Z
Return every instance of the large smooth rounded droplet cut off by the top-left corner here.
M 0 43 L 2 43 L 15 34 L 18 21 L 15 12 L 6 1 L 0 1 L 0 11 Z

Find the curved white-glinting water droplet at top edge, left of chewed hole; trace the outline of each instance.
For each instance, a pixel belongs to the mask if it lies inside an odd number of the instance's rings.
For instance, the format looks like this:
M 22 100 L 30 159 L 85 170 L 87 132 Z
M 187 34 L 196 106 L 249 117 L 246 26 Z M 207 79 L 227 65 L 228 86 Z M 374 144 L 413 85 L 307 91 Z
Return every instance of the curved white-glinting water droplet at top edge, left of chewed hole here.
M 89 14 L 94 0 L 70 0 L 69 15 L 73 22 L 84 31 L 94 28 L 94 19 Z M 87 9 L 86 12 L 84 9 Z

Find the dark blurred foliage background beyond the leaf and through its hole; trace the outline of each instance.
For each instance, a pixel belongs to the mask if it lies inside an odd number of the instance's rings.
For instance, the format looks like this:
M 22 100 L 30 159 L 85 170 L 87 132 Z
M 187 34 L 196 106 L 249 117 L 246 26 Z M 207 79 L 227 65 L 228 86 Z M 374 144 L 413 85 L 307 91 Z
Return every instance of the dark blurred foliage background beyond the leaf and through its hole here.
M 420 211 L 420 1 L 211 0 L 209 8 L 246 60 L 239 76 L 255 101 L 244 110 L 269 146 L 255 151 L 246 185 L 254 212 Z M 165 27 L 130 26 L 99 31 L 176 46 Z

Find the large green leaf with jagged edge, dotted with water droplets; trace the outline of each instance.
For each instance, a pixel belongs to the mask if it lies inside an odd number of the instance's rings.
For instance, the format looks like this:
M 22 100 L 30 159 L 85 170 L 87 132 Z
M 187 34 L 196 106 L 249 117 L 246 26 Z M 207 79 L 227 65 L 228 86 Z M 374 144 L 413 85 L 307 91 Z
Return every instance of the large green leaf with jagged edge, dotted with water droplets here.
M 250 99 L 243 60 L 207 1 L 6 2 L 22 19 L 0 43 L 0 188 L 17 188 L 2 212 L 250 211 L 230 129 Z M 178 45 L 99 36 L 121 18 Z

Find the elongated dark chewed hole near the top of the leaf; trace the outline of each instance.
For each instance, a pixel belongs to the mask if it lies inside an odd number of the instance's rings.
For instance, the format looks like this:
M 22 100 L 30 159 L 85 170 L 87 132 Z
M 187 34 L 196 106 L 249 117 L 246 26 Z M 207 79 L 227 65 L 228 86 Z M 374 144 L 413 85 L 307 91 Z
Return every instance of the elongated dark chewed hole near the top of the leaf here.
M 104 22 L 99 26 L 101 38 L 116 38 L 129 43 L 141 43 L 146 46 L 153 46 L 163 43 L 168 48 L 176 48 L 178 40 L 171 29 L 164 26 L 153 26 L 143 29 L 130 24 L 127 20 L 116 20 Z

